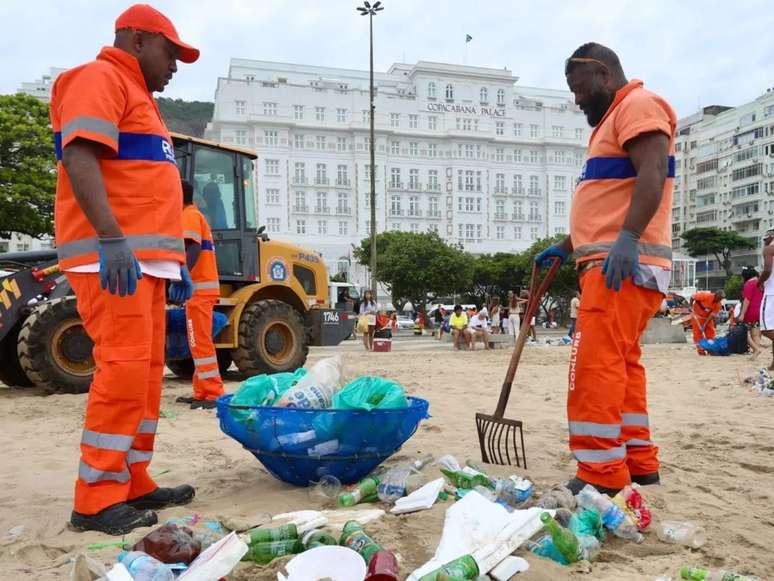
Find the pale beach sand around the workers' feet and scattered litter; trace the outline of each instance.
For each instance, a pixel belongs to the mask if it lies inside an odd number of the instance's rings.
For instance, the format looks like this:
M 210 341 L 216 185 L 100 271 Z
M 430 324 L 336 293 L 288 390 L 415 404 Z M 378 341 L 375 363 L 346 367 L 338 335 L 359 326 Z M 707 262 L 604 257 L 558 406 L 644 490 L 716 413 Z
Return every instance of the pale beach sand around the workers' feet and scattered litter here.
M 491 412 L 505 371 L 507 351 L 347 354 L 352 374 L 373 373 L 403 383 L 408 392 L 430 400 L 432 419 L 424 422 L 396 459 L 420 453 L 451 453 L 461 461 L 479 457 L 476 411 Z M 310 358 L 310 362 L 314 361 Z M 567 449 L 565 391 L 568 349 L 530 347 L 506 416 L 525 422 L 529 469 L 517 472 L 539 488 L 566 480 L 573 472 Z M 649 534 L 642 545 L 611 539 L 589 574 L 594 580 L 677 578 L 683 564 L 727 567 L 774 578 L 774 398 L 756 397 L 737 382 L 737 372 L 752 370 L 746 358 L 702 357 L 688 345 L 644 348 L 650 379 L 650 418 L 661 447 L 662 481 L 644 489 L 657 517 L 690 520 L 707 530 L 698 551 L 660 543 Z M 229 390 L 237 383 L 230 382 Z M 159 425 L 154 473 L 160 485 L 188 482 L 195 501 L 162 511 L 161 519 L 198 512 L 277 514 L 317 508 L 306 489 L 270 476 L 218 427 L 214 411 L 193 411 L 175 404 L 187 394 L 186 382 L 165 378 L 162 409 L 176 418 Z M 35 389 L 0 388 L 3 470 L 0 474 L 0 579 L 66 579 L 70 561 L 86 544 L 115 540 L 71 531 L 73 477 L 86 401 L 84 395 L 44 396 Z M 367 528 L 399 553 L 408 573 L 435 551 L 444 511 L 387 515 Z M 8 531 L 22 525 L 12 539 Z M 141 534 L 133 534 L 137 539 Z M 105 563 L 118 549 L 90 551 Z M 524 551 L 530 570 L 524 580 L 571 579 L 580 575 Z M 233 579 L 275 579 L 271 567 L 240 565 Z

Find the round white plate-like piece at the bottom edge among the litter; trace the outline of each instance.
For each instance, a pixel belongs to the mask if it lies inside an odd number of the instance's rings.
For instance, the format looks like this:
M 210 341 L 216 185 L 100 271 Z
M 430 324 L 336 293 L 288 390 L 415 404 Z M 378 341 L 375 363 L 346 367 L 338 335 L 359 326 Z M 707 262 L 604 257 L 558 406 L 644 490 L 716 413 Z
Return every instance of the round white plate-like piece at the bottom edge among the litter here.
M 315 547 L 293 557 L 285 565 L 287 576 L 277 573 L 278 581 L 363 581 L 366 564 L 359 553 L 348 547 Z

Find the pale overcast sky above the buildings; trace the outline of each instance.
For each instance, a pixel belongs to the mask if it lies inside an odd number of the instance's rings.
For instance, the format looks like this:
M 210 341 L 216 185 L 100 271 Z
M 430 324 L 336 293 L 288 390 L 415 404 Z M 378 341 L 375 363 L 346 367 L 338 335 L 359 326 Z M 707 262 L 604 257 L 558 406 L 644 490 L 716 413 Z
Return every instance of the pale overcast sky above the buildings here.
M 384 0 L 375 67 L 429 60 L 507 67 L 529 86 L 565 89 L 564 59 L 593 40 L 679 116 L 739 105 L 774 86 L 771 0 Z M 231 57 L 367 69 L 368 23 L 354 0 L 156 0 L 201 49 L 164 95 L 212 100 Z M 362 1 L 361 1 L 362 4 Z M 0 93 L 112 43 L 114 0 L 0 0 Z M 465 49 L 465 35 L 473 40 Z

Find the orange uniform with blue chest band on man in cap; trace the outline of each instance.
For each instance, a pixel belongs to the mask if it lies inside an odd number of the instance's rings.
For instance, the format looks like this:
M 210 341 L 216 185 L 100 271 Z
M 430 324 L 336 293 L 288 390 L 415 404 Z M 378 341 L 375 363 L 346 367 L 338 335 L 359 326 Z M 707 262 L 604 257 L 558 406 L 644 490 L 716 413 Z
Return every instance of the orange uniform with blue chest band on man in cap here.
M 182 191 L 172 139 L 136 58 L 104 48 L 96 61 L 62 73 L 51 95 L 57 155 L 55 232 L 96 372 L 89 391 L 75 485 L 75 510 L 102 509 L 154 491 L 148 474 L 164 368 L 165 280 L 185 262 Z M 145 271 L 134 295 L 102 290 L 97 234 L 61 163 L 75 139 L 104 147 L 108 202 Z M 149 269 L 150 270 L 150 269 Z M 170 275 L 170 278 L 176 276 Z

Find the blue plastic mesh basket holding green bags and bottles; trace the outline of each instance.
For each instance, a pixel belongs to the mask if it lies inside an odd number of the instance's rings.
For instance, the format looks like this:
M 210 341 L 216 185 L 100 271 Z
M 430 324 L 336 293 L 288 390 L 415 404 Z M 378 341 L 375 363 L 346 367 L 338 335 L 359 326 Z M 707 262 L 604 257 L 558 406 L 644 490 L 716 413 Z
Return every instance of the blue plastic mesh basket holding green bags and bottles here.
M 353 484 L 397 452 L 430 417 L 429 403 L 407 398 L 403 409 L 310 410 L 231 405 L 217 400 L 220 429 L 275 477 L 297 486 L 332 475 Z

